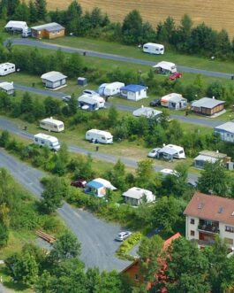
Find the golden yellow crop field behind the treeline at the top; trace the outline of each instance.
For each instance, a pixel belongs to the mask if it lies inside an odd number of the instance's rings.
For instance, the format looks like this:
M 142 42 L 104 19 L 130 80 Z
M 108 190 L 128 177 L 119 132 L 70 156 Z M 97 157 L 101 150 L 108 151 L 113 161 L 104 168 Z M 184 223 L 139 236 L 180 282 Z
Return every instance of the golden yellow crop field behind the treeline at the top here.
M 48 0 L 49 10 L 64 9 L 72 0 Z M 234 35 L 234 4 L 233 0 L 79 0 L 83 11 L 97 6 L 107 12 L 112 20 L 125 18 L 133 9 L 140 11 L 144 20 L 149 20 L 156 27 L 160 20 L 169 15 L 179 22 L 187 13 L 194 24 L 204 21 L 208 26 L 221 30 L 225 28 L 230 36 Z

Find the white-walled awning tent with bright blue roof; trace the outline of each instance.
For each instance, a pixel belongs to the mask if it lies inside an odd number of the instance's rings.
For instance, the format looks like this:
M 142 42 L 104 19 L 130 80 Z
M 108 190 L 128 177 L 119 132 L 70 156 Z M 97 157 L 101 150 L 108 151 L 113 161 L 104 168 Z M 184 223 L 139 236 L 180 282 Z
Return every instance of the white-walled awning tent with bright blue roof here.
M 139 101 L 147 97 L 147 87 L 138 84 L 129 84 L 120 89 L 120 95 L 128 100 Z

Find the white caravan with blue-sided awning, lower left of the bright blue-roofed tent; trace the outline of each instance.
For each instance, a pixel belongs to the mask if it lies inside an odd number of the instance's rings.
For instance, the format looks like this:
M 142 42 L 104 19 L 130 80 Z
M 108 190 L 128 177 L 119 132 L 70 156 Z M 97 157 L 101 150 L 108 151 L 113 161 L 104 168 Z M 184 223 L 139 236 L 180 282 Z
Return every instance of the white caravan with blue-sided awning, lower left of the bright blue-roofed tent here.
M 78 98 L 79 107 L 83 110 L 94 111 L 105 108 L 105 100 L 99 95 L 84 94 Z

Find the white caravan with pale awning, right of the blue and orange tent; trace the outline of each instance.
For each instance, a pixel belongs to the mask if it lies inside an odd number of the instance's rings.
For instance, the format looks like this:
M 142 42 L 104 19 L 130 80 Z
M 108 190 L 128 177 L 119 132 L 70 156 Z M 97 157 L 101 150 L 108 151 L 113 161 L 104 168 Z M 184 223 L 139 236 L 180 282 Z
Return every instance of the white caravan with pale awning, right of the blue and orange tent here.
M 138 187 L 132 187 L 122 194 L 125 197 L 125 203 L 131 205 L 140 205 L 143 198 L 147 200 L 147 203 L 155 201 L 155 195 L 147 189 L 140 189 Z

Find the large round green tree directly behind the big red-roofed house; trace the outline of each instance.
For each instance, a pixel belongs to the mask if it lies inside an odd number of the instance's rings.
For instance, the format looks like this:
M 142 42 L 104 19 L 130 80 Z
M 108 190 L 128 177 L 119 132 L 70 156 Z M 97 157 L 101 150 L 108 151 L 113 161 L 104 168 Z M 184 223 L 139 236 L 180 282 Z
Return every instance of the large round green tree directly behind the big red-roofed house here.
M 230 179 L 220 160 L 207 162 L 198 180 L 200 192 L 225 197 L 228 194 Z

